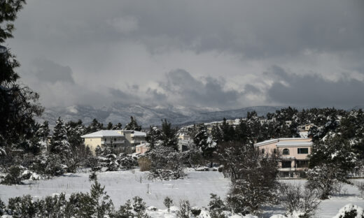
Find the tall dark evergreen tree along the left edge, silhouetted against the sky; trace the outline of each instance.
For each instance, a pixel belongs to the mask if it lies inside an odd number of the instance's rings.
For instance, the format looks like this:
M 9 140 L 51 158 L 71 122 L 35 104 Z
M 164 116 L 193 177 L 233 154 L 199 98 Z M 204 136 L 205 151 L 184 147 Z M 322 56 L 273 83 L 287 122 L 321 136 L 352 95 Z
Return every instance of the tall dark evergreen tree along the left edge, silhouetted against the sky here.
M 15 68 L 20 66 L 8 48 L 1 45 L 13 37 L 13 22 L 24 0 L 0 1 L 0 155 L 21 140 L 34 137 L 34 116 L 41 115 L 38 94 L 20 85 Z

